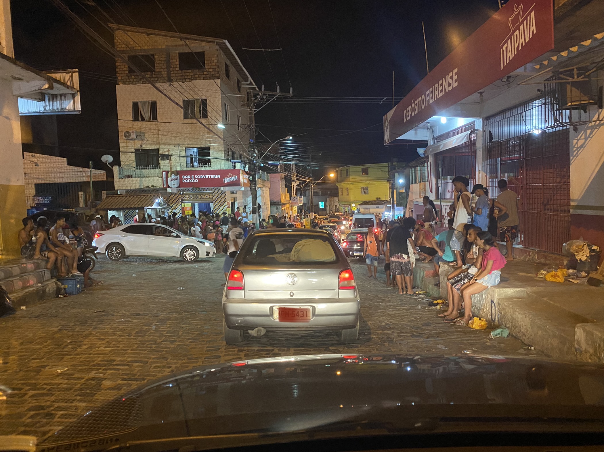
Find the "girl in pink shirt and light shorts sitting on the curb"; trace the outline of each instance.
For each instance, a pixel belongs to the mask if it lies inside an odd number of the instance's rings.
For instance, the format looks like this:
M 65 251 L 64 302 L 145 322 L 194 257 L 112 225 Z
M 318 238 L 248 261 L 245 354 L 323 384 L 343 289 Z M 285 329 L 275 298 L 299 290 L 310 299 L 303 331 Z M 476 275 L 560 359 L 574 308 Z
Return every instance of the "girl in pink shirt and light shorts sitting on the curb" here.
M 465 314 L 455 325 L 465 326 L 472 319 L 472 295 L 480 293 L 490 286 L 499 284 L 501 269 L 506 265 L 506 258 L 500 253 L 495 239 L 487 231 L 479 232 L 474 241 L 483 250 L 483 261 L 480 271 L 461 289 L 461 298 Z

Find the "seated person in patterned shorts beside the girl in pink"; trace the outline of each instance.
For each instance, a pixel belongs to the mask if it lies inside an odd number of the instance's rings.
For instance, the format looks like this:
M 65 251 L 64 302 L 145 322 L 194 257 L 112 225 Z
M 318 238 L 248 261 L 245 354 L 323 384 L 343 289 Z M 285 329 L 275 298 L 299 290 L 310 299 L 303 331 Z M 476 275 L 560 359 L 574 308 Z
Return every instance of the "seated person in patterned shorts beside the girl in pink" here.
M 464 249 L 465 263 L 464 266 L 455 269 L 447 277 L 447 300 L 449 301 L 449 309 L 439 314 L 439 317 L 444 317 L 445 322 L 454 321 L 459 317 L 461 310 L 461 287 L 468 283 L 474 275 L 477 274 L 480 268 L 482 258 L 482 250 L 476 245 L 475 240 L 477 234 L 482 230 L 479 227 L 468 225 L 466 234 L 466 244 Z

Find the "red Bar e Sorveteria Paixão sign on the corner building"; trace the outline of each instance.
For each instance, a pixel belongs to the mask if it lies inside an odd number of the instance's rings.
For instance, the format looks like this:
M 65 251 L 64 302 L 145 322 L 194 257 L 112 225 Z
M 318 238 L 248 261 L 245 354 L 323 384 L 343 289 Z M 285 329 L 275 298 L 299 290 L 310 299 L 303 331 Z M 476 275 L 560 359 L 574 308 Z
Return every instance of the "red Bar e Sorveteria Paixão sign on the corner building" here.
M 240 169 L 186 169 L 162 171 L 164 187 L 249 187 L 248 175 Z

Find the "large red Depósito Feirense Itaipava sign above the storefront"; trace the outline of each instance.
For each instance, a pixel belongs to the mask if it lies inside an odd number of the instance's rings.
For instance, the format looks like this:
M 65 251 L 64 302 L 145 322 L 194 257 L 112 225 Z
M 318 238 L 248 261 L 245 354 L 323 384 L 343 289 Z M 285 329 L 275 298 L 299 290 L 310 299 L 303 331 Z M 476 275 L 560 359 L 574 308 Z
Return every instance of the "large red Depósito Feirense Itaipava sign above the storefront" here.
M 516 71 L 553 46 L 553 1 L 507 2 L 388 111 L 384 116 L 384 143 Z

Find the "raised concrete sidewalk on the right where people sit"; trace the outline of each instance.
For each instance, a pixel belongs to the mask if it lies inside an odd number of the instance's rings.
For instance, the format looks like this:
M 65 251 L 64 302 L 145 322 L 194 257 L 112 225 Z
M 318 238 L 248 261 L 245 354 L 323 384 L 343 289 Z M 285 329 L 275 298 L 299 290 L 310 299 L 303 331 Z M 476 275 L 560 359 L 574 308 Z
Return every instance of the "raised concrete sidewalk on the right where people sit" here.
M 508 328 L 549 357 L 604 362 L 604 286 L 545 281 L 535 276 L 544 266 L 508 263 L 500 284 L 472 297 L 472 313 L 492 327 Z M 434 266 L 419 263 L 416 285 L 435 297 L 446 296 L 451 271 L 451 266 L 441 266 L 439 290 Z

